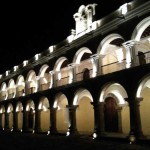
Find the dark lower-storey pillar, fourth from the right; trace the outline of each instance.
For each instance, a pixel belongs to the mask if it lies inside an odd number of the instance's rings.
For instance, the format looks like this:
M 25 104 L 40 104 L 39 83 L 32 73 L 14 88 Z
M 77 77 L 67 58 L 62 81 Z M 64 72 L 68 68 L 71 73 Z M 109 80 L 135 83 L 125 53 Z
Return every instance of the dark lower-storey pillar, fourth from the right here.
M 50 108 L 50 120 L 51 120 L 50 134 L 56 134 L 57 133 L 56 113 L 57 113 L 57 108 Z

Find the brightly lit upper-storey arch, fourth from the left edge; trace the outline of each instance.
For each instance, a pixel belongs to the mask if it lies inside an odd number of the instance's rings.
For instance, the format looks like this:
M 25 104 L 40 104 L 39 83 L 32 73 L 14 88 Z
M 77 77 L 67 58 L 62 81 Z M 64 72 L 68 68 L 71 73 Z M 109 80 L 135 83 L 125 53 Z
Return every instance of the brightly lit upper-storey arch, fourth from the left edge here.
M 37 84 L 37 77 L 34 70 L 30 70 L 27 74 L 26 78 L 26 86 L 25 92 L 26 94 L 31 94 L 37 92 L 38 84 Z

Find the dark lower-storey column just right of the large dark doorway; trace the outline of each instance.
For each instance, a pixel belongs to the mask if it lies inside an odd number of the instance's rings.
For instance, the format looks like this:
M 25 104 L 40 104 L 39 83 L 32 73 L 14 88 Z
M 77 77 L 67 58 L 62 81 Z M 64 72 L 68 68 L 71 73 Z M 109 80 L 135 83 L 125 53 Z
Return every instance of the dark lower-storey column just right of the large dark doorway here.
M 140 117 L 140 110 L 139 110 L 139 104 L 140 101 L 143 100 L 143 98 L 130 98 L 126 99 L 129 103 L 130 108 L 130 133 L 129 137 L 131 135 L 134 135 L 135 137 L 141 137 L 143 136 L 142 128 L 141 128 L 141 117 Z

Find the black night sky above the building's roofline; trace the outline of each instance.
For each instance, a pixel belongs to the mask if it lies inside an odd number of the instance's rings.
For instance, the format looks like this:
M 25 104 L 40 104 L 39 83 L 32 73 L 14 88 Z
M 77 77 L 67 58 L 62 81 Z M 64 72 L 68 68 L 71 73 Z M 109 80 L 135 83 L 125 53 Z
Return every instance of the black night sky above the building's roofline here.
M 130 0 L 131 1 L 131 0 Z M 73 14 L 97 3 L 97 19 L 129 0 L 55 0 L 0 5 L 0 74 L 57 44 L 75 28 Z

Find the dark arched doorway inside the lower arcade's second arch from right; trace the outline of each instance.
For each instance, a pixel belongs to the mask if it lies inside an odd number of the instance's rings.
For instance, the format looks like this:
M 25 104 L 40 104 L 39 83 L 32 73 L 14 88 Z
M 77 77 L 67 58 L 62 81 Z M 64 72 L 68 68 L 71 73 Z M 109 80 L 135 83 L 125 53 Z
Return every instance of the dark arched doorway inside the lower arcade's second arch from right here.
M 105 100 L 104 120 L 106 132 L 118 132 L 118 112 L 117 103 L 112 97 Z

